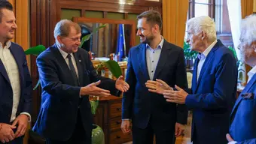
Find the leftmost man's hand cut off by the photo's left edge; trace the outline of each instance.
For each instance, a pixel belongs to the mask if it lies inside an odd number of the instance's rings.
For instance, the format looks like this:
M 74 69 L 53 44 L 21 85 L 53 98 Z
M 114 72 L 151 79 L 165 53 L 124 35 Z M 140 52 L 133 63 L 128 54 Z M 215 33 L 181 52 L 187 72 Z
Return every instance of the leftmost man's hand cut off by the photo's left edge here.
M 0 141 L 2 143 L 11 142 L 15 138 L 14 130 L 16 127 L 11 124 L 0 123 Z

